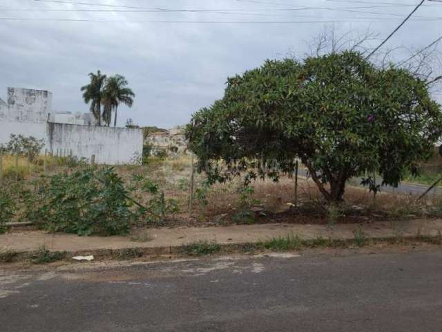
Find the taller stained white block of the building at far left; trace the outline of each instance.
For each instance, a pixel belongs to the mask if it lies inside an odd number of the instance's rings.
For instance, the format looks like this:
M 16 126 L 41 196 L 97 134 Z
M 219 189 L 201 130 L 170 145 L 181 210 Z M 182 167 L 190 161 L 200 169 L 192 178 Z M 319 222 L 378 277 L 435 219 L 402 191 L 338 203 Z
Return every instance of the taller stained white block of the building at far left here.
M 49 91 L 8 88 L 8 111 L 0 120 L 46 122 L 51 108 Z

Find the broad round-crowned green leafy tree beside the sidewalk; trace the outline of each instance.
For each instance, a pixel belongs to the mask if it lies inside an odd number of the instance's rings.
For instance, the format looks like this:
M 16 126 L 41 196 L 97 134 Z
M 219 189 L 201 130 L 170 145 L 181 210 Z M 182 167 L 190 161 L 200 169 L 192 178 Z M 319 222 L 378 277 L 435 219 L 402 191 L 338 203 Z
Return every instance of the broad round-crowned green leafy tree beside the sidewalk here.
M 277 180 L 300 158 L 324 198 L 339 202 L 354 176 L 378 172 L 397 186 L 406 169 L 417 172 L 441 125 L 425 81 L 343 51 L 267 60 L 229 78 L 224 98 L 194 113 L 186 136 L 212 182 L 244 171 L 246 183 Z

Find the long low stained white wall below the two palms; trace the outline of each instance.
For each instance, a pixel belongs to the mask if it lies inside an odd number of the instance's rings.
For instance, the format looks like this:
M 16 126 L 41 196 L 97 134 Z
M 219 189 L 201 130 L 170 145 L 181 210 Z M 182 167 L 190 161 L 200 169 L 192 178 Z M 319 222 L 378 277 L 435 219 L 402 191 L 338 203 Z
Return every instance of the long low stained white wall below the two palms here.
M 95 155 L 95 162 L 116 165 L 133 163 L 134 156 L 142 156 L 142 129 L 90 127 L 77 124 L 48 122 L 49 149 L 72 150 L 73 156 L 90 160 Z

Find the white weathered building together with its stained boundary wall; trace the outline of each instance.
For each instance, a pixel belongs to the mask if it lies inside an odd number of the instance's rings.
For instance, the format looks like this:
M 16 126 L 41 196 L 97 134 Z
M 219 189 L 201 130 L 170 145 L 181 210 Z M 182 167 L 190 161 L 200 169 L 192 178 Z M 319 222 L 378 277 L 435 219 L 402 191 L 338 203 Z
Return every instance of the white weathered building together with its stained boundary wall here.
M 11 134 L 32 136 L 44 142 L 50 154 L 72 154 L 96 163 L 140 163 L 142 129 L 97 127 L 90 113 L 52 111 L 52 93 L 8 88 L 8 102 L 0 100 L 0 145 Z

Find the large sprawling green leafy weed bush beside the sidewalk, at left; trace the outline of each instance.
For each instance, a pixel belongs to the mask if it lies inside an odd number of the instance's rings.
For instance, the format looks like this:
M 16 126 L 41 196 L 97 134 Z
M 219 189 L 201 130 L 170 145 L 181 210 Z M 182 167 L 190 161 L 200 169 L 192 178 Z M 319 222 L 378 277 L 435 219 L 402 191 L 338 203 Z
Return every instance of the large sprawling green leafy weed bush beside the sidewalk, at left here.
M 57 174 L 31 199 L 26 219 L 55 232 L 126 234 L 133 219 L 127 194 L 113 167 Z

